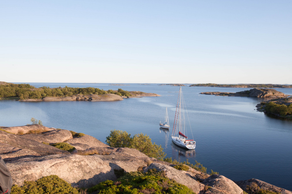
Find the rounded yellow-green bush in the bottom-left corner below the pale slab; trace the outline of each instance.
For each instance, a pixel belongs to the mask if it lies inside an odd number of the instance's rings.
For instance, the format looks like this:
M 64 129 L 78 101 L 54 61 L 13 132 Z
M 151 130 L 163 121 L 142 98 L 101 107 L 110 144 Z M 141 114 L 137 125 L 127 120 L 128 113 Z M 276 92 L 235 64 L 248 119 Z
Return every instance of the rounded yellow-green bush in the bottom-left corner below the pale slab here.
M 57 175 L 50 175 L 37 181 L 24 181 L 22 187 L 14 185 L 11 194 L 78 194 L 77 188 L 71 186 Z

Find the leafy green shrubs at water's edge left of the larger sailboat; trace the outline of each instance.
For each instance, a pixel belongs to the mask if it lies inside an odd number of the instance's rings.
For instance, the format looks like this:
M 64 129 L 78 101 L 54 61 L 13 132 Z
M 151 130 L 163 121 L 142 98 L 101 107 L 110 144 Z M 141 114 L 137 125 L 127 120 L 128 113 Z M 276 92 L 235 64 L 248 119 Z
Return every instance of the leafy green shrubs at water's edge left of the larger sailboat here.
M 166 156 L 161 145 L 152 143 L 151 138 L 143 133 L 131 137 L 131 134 L 128 134 L 126 131 L 111 130 L 106 139 L 107 145 L 111 147 L 135 148 L 149 157 L 161 160 Z

